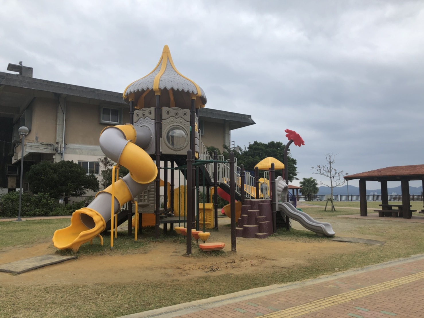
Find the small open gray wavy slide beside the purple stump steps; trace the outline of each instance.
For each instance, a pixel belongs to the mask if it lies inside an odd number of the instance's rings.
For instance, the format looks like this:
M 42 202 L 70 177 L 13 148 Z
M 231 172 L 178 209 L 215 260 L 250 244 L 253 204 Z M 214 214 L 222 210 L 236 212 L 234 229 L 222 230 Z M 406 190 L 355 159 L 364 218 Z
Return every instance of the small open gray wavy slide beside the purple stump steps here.
M 289 202 L 278 202 L 277 209 L 280 212 L 284 212 L 284 214 L 286 214 L 289 218 L 298 221 L 304 228 L 315 232 L 320 236 L 334 236 L 336 234 L 330 223 L 314 220 L 310 217 L 310 215 L 299 211 Z

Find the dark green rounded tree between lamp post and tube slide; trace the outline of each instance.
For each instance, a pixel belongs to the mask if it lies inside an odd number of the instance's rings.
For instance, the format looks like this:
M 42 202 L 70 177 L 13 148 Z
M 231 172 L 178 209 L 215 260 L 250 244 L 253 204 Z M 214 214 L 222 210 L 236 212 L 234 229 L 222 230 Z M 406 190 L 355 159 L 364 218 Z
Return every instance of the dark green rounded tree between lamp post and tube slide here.
M 99 181 L 94 174 L 73 161 L 42 161 L 31 166 L 27 179 L 33 193 L 45 193 L 51 198 L 63 198 L 65 204 L 69 198 L 86 194 L 87 190 L 97 191 Z

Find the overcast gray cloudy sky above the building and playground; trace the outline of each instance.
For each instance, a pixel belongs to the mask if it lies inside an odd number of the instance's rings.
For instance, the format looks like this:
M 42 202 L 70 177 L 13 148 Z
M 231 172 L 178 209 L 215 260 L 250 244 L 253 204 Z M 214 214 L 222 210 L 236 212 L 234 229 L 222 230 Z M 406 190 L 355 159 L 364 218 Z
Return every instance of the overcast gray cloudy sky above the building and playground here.
M 236 145 L 285 143 L 285 128 L 303 137 L 290 147 L 300 179 L 321 180 L 311 167 L 326 153 L 349 174 L 423 164 L 423 1 L 0 0 L 0 8 L 0 71 L 23 61 L 35 78 L 123 92 L 167 44 L 206 107 L 252 116 L 256 125 L 232 131 Z

